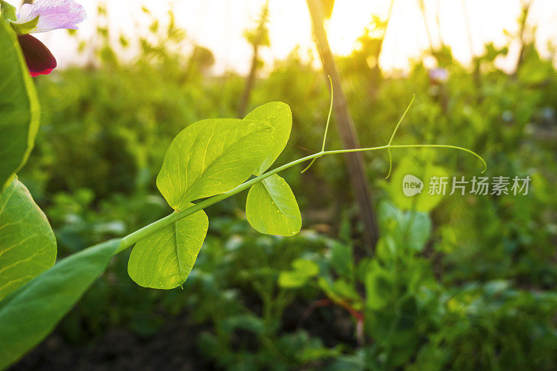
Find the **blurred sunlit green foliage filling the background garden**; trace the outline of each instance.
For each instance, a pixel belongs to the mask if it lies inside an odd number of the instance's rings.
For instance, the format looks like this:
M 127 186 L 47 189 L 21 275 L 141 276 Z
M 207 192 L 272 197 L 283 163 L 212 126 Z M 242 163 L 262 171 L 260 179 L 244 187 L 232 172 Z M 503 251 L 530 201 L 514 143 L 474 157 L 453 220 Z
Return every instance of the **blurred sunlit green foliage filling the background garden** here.
M 100 63 L 38 80 L 43 109 L 36 150 L 22 180 L 45 210 L 60 255 L 124 235 L 170 212 L 155 175 L 189 123 L 234 117 L 244 81 L 210 77 L 207 49 L 178 52 L 183 34 L 153 24 L 141 53 L 123 62 L 105 42 Z M 127 41 L 123 40 L 123 46 Z M 379 44 L 380 45 L 380 44 Z M 300 235 L 259 235 L 245 195 L 206 210 L 210 229 L 183 290 L 147 290 L 118 256 L 58 329 L 91 342 L 109 326 L 149 337 L 187 313 L 198 354 L 228 370 L 552 370 L 557 364 L 557 74 L 526 45 L 512 76 L 487 45 L 474 71 L 435 54 L 447 79 L 422 63 L 405 77 L 377 70 L 377 39 L 339 58 L 361 143 L 389 141 L 412 93 L 416 104 L 393 144 L 461 145 L 485 157 L 486 176 L 530 175 L 527 196 L 402 196 L 398 175 L 478 175 L 473 157 L 444 150 L 366 155 L 381 239 L 360 246 L 342 157 L 281 176 L 304 214 Z M 320 149 L 327 80 L 297 52 L 253 90 L 251 106 L 282 101 L 294 127 L 277 163 Z M 334 125 L 334 123 L 333 123 Z M 333 131 L 334 132 L 334 131 Z M 339 148 L 331 136 L 329 148 Z M 301 170 L 301 169 L 300 169 Z M 422 197 L 423 196 L 423 197 Z

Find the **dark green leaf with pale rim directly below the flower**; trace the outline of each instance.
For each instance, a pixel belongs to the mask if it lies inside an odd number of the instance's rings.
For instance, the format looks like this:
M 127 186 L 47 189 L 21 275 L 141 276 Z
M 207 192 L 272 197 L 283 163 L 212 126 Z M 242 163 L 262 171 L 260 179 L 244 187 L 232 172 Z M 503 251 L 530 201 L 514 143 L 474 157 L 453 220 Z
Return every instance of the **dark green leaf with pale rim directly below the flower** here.
M 15 32 L 0 22 L 0 189 L 23 166 L 35 143 L 39 104 Z

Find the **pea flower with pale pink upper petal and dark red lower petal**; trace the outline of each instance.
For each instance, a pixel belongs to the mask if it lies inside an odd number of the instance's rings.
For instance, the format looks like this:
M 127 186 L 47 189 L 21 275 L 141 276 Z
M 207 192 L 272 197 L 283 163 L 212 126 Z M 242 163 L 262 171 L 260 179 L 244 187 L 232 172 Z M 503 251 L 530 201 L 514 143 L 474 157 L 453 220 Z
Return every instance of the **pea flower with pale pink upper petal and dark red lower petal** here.
M 2 15 L 17 33 L 31 76 L 49 74 L 56 68 L 56 58 L 49 49 L 30 33 L 41 33 L 55 29 L 77 29 L 86 13 L 83 6 L 73 0 L 38 0 L 24 4 L 15 14 L 15 8 L 0 0 Z

